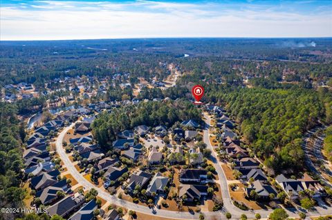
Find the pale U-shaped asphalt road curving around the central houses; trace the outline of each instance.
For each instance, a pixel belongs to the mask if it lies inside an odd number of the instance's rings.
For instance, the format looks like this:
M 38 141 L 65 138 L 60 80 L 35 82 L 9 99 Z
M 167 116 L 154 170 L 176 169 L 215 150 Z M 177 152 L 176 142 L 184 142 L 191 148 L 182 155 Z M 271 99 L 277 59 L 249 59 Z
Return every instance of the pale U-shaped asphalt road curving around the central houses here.
M 210 150 L 212 150 L 211 160 L 214 163 L 214 167 L 216 168 L 216 172 L 219 176 L 219 184 L 221 186 L 224 211 L 230 212 L 232 214 L 232 219 L 238 219 L 241 216 L 241 214 L 243 214 L 243 213 L 245 213 L 248 218 L 255 218 L 256 213 L 261 214 L 261 217 L 263 219 L 266 218 L 272 210 L 243 211 L 243 210 L 240 210 L 239 208 L 235 207 L 232 204 L 232 201 L 230 199 L 230 193 L 228 192 L 228 183 L 225 178 L 225 173 L 223 172 L 223 169 L 221 168 L 221 165 L 220 165 L 219 161 L 217 160 L 216 152 L 214 152 L 214 149 L 212 148 L 212 145 L 210 143 L 209 130 L 208 130 L 208 128 L 210 128 L 210 117 L 206 117 L 206 118 L 207 118 L 207 120 L 206 120 L 207 125 L 205 126 L 203 140 L 207 144 L 208 148 L 210 148 Z M 141 206 L 141 205 L 138 205 L 135 203 L 131 203 L 129 201 L 124 201 L 123 199 L 118 199 L 118 197 L 113 196 L 98 187 L 95 187 L 95 185 L 93 185 L 93 183 L 90 183 L 89 181 L 87 181 L 80 174 L 80 172 L 78 172 L 76 170 L 75 166 L 73 166 L 73 163 L 68 158 L 64 148 L 62 147 L 62 141 L 64 139 L 64 135 L 74 125 L 75 125 L 75 123 L 72 123 L 70 126 L 68 126 L 67 128 L 64 128 L 64 130 L 62 130 L 62 132 L 59 133 L 57 140 L 55 141 L 55 146 L 57 149 L 57 153 L 59 154 L 59 157 L 64 162 L 64 166 L 66 166 L 66 168 L 71 173 L 73 178 L 80 185 L 82 185 L 86 190 L 95 188 L 98 191 L 98 196 L 101 197 L 102 199 L 105 199 L 106 201 L 109 201 L 110 203 L 115 204 L 117 206 L 122 206 L 124 208 L 127 208 L 128 210 L 135 210 L 136 212 L 142 212 L 144 214 L 149 214 L 149 215 L 151 215 L 151 219 L 154 219 L 154 215 L 159 216 L 159 217 L 167 217 L 169 219 L 199 219 L 199 214 L 196 212 L 194 214 L 190 214 L 189 212 L 176 212 L 176 211 L 169 211 L 169 210 L 154 209 L 155 212 L 152 213 L 153 209 L 148 208 L 147 206 Z M 296 214 L 295 212 L 290 212 L 290 211 L 287 211 L 287 212 L 290 217 L 298 217 L 298 214 Z M 322 212 L 308 213 L 308 215 L 320 216 L 320 213 L 322 213 Z M 323 210 L 322 214 L 331 214 L 331 213 L 332 213 L 332 209 L 327 208 L 326 210 Z M 203 212 L 203 214 L 205 215 L 205 219 L 225 219 L 223 212 Z

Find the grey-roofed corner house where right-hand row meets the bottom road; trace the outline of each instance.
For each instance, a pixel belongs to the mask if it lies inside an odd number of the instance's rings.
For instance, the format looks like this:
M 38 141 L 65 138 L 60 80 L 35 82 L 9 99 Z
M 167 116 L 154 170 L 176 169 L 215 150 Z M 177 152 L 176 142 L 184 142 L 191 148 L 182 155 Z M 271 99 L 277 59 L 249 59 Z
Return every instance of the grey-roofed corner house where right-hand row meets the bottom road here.
M 262 181 L 256 180 L 248 188 L 245 189 L 245 192 L 248 197 L 250 197 L 250 192 L 252 190 L 255 190 L 257 192 L 257 197 L 259 199 L 269 199 L 270 194 L 274 195 L 274 199 L 277 198 L 277 190 L 273 186 L 267 185 L 266 183 L 263 183 Z

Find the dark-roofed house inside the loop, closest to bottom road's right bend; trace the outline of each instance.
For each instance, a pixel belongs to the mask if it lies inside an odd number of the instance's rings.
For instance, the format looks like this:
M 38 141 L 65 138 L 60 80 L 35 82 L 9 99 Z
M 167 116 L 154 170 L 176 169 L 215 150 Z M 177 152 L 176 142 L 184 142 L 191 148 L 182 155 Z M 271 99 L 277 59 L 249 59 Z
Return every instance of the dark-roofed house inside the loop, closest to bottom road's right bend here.
M 184 195 L 187 197 L 184 199 L 187 202 L 192 202 L 195 199 L 200 200 L 201 197 L 208 195 L 208 186 L 191 184 L 181 185 L 178 192 L 178 197 L 183 197 Z

